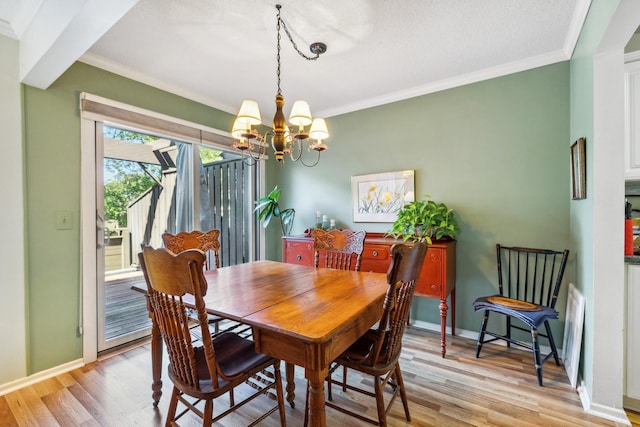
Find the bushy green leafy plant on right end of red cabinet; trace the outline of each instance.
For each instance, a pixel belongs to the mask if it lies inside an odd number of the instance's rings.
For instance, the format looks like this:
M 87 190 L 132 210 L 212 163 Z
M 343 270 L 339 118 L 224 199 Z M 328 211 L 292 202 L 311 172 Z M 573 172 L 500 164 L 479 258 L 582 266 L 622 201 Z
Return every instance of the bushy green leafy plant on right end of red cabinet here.
M 453 209 L 429 200 L 429 195 L 425 197 L 425 200 L 416 200 L 402 207 L 387 234 L 405 242 L 426 240 L 429 244 L 432 240 L 455 239 L 460 234 L 460 227 Z

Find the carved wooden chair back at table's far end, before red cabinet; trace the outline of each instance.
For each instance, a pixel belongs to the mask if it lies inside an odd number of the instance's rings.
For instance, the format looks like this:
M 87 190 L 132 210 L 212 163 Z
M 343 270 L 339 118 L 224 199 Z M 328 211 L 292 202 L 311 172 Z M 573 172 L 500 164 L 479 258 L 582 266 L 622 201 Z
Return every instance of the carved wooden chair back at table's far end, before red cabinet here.
M 366 235 L 364 230 L 313 230 L 314 266 L 360 271 Z

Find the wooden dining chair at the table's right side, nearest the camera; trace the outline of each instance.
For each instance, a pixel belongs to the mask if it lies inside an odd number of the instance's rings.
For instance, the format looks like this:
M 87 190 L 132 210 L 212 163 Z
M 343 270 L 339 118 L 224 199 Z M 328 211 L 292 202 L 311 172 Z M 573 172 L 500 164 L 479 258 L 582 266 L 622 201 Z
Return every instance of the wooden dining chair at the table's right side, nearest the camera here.
M 405 417 L 407 421 L 411 421 L 399 359 L 402 351 L 402 336 L 409 319 L 416 281 L 420 276 L 426 253 L 427 243 L 424 241 L 415 243 L 413 246 L 402 243 L 396 244 L 391 248 L 391 265 L 387 271 L 389 288 L 385 295 L 380 321 L 376 327 L 369 330 L 331 363 L 327 377 L 328 401 L 325 402 L 326 406 L 359 420 L 374 425 L 386 426 L 387 412 L 399 393 L 404 406 Z M 343 381 L 333 380 L 332 373 L 340 366 L 354 369 L 373 377 L 373 392 L 365 390 L 361 385 L 349 384 L 346 379 L 343 379 Z M 343 391 L 352 390 L 375 397 L 377 420 L 334 403 L 331 395 L 333 384 L 342 386 Z M 385 389 L 391 393 L 386 404 Z M 308 413 L 309 386 L 307 385 L 305 426 L 308 423 Z

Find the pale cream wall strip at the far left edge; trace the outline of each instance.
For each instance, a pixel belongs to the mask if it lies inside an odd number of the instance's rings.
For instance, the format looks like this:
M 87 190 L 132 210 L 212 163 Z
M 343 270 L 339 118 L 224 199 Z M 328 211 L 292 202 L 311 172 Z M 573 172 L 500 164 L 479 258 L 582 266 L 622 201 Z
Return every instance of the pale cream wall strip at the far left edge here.
M 27 373 L 24 183 L 18 42 L 0 36 L 0 384 Z

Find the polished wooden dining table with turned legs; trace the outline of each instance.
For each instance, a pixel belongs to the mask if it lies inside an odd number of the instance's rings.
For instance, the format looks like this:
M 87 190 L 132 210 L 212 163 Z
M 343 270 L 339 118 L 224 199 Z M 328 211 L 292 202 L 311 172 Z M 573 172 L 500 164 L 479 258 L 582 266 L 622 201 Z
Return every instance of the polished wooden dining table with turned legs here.
M 310 425 L 325 426 L 329 364 L 380 319 L 386 275 L 256 261 L 210 270 L 205 278 L 207 312 L 250 325 L 256 351 L 285 361 L 285 390 L 292 407 L 294 367 L 304 368 Z M 157 404 L 162 393 L 162 338 L 155 324 L 151 351 Z

